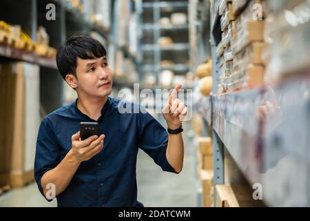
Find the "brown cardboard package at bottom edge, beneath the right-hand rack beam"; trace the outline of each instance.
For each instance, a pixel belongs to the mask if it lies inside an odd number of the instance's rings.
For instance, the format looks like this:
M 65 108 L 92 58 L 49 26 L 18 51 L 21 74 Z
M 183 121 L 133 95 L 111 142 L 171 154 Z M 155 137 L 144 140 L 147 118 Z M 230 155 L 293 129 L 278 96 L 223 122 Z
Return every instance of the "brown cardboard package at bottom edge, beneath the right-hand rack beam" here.
M 218 207 L 262 207 L 262 200 L 253 199 L 253 189 L 241 184 L 216 185 Z

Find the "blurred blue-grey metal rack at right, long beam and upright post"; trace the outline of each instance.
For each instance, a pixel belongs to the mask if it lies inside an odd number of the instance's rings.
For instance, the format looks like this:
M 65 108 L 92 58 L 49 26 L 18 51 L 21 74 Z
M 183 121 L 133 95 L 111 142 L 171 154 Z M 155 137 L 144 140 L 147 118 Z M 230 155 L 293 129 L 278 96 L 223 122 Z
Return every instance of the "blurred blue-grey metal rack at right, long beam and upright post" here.
M 221 35 L 217 10 L 211 16 L 209 37 L 212 95 L 204 97 L 198 107 L 207 122 L 205 128 L 212 128 L 214 187 L 240 182 L 227 175 L 238 171 L 249 188 L 262 187 L 267 206 L 309 206 L 309 69 L 296 68 L 272 85 L 219 95 L 215 52 Z M 259 115 L 265 102 L 273 111 Z M 235 168 L 225 165 L 227 155 Z

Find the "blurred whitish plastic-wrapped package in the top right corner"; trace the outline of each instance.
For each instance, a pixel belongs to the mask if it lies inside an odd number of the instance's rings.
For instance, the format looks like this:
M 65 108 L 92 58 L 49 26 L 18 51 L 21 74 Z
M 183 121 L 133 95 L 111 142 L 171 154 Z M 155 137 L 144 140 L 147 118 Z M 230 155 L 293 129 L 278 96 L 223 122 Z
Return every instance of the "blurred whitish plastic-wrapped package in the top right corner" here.
M 267 6 L 271 7 L 269 4 Z M 310 67 L 310 3 L 294 1 L 293 5 L 292 7 L 291 3 L 287 3 L 282 6 L 283 10 L 267 15 L 265 39 L 268 47 L 263 52 L 263 60 L 267 61 L 267 82 L 300 73 Z

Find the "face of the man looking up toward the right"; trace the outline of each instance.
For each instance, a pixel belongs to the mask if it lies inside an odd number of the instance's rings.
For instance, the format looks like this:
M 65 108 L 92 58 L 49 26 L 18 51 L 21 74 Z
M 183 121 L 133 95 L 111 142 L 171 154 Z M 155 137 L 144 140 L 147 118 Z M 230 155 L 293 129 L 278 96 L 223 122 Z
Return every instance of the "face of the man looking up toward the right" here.
M 112 91 L 113 77 L 107 57 L 77 58 L 76 91 L 92 97 L 105 97 Z

